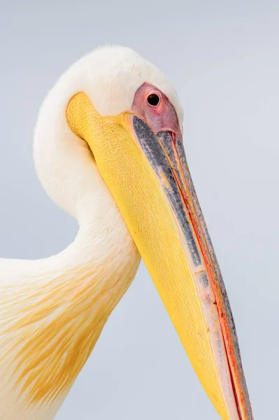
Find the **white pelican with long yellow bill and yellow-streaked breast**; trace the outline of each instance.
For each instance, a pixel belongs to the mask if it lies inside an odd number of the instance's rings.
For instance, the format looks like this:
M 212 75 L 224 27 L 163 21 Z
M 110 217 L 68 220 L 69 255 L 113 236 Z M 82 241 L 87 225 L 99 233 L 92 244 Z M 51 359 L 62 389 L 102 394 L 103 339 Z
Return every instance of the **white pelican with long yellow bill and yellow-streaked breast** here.
M 0 260 L 1 420 L 54 418 L 140 258 L 220 417 L 252 420 L 182 133 L 176 91 L 130 48 L 94 50 L 48 93 L 36 172 L 79 230 L 58 255 Z

